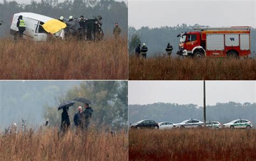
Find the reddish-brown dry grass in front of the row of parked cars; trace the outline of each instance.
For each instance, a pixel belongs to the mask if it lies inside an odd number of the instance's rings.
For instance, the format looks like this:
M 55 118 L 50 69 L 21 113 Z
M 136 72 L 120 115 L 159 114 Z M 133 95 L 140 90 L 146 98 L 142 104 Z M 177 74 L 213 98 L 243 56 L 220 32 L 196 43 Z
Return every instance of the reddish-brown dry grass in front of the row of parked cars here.
M 256 129 L 129 130 L 129 160 L 256 160 Z

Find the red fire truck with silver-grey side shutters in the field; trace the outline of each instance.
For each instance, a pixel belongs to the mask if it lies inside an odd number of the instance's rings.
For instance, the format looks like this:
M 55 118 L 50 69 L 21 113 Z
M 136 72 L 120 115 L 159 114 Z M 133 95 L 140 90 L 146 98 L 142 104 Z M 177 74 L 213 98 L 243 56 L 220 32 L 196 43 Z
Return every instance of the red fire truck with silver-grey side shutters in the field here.
M 179 34 L 178 55 L 192 57 L 245 57 L 251 54 L 250 26 L 196 27 Z

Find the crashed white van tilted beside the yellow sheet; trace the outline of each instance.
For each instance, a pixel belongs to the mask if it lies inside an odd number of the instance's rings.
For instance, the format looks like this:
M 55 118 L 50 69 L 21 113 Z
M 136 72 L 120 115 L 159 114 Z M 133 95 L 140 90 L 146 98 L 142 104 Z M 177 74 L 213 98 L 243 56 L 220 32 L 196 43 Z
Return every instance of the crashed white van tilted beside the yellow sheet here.
M 48 33 L 42 25 L 53 18 L 30 12 L 15 13 L 10 27 L 10 33 L 15 37 L 18 35 L 17 22 L 20 15 L 23 16 L 26 25 L 24 38 L 31 37 L 34 41 L 46 41 Z

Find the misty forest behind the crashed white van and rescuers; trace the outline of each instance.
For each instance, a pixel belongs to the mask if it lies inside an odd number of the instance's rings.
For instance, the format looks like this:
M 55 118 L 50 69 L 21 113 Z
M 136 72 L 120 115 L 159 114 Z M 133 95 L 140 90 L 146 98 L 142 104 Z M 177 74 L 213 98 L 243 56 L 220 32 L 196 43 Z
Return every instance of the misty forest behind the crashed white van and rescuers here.
M 93 16 L 101 15 L 103 17 L 103 31 L 107 35 L 113 32 L 114 23 L 118 22 L 122 29 L 122 34 L 128 31 L 128 9 L 125 2 L 109 1 L 90 1 L 90 0 L 74 0 L 73 2 L 66 0 L 58 3 L 57 0 L 41 0 L 40 3 L 31 1 L 31 4 L 19 4 L 17 2 L 4 1 L 0 3 L 0 21 L 4 24 L 0 26 L 0 37 L 9 36 L 10 23 L 14 13 L 33 12 L 41 15 L 58 19 L 60 16 L 75 18 L 83 15 L 85 18 L 93 18 Z

